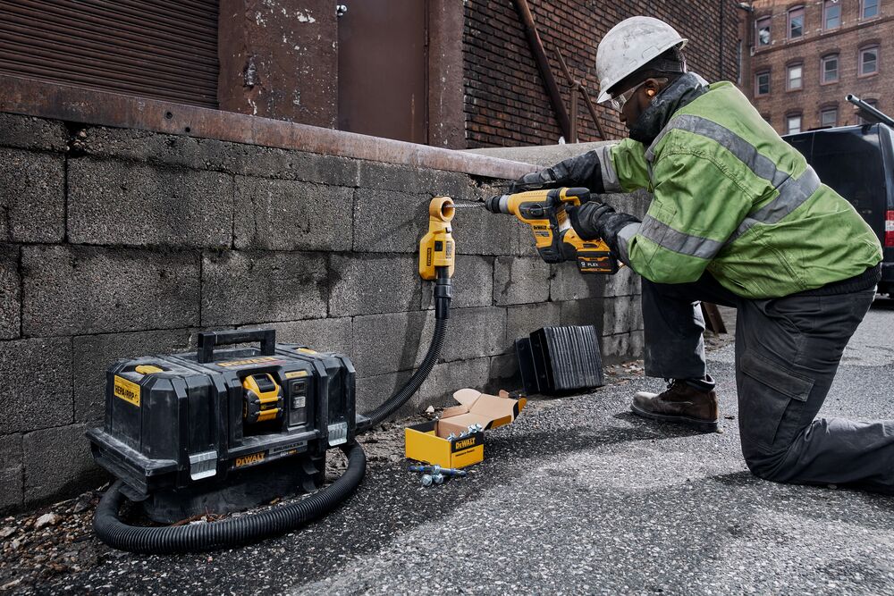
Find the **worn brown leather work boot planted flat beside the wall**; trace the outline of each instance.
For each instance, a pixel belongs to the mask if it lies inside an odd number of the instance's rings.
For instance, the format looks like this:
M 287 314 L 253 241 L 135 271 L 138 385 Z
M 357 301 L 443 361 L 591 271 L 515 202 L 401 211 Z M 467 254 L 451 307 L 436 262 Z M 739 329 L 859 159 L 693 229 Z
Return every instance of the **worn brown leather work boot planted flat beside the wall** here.
M 682 379 L 671 379 L 667 390 L 658 395 L 639 391 L 630 409 L 639 416 L 686 424 L 702 432 L 716 432 L 720 425 L 717 393 L 698 389 Z

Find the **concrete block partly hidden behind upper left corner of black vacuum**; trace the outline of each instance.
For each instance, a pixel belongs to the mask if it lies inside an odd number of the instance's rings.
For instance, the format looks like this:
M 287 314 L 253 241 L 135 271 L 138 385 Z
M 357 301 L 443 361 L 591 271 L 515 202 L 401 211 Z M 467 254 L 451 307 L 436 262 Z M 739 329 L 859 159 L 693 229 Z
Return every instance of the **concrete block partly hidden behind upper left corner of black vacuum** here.
M 110 333 L 72 338 L 74 421 L 98 426 L 105 415 L 105 370 L 120 358 L 172 354 L 196 348 L 195 332 Z

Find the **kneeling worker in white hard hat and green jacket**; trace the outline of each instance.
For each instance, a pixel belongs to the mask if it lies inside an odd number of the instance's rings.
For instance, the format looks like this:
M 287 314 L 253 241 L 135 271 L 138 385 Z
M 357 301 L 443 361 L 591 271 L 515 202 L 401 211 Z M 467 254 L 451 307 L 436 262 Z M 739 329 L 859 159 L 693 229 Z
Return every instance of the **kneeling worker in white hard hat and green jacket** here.
M 748 467 L 784 483 L 856 483 L 894 492 L 894 420 L 814 419 L 841 354 L 875 296 L 881 246 L 730 82 L 688 72 L 687 40 L 649 17 L 599 44 L 599 102 L 629 139 L 518 180 L 516 190 L 650 190 L 648 214 L 596 201 L 572 209 L 584 239 L 603 238 L 643 277 L 645 374 L 639 416 L 713 431 L 699 300 L 738 308 L 736 383 Z

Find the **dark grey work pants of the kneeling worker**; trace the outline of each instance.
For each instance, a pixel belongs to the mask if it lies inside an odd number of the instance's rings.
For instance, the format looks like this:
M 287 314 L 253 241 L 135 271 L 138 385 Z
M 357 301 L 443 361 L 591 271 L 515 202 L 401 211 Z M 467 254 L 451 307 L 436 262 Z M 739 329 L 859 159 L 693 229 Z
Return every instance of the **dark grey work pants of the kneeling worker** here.
M 783 483 L 856 483 L 894 493 L 894 420 L 816 418 L 874 296 L 873 289 L 749 300 L 709 273 L 685 284 L 644 278 L 645 374 L 704 376 L 699 301 L 733 306 L 738 424 L 751 471 Z

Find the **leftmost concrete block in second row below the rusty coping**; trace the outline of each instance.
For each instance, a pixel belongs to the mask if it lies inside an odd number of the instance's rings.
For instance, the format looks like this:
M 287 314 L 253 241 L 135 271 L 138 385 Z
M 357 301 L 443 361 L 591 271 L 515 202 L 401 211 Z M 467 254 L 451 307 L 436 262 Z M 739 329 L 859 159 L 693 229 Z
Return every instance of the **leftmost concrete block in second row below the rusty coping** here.
M 0 241 L 64 238 L 64 160 L 63 155 L 0 149 Z

